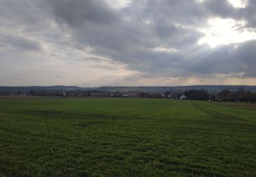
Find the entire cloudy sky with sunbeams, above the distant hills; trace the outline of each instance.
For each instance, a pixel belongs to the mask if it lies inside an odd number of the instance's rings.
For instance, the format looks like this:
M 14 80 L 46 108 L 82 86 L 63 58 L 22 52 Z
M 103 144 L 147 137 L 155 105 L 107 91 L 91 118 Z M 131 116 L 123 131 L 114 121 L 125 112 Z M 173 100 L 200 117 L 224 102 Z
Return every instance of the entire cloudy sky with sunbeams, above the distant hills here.
M 255 0 L 0 0 L 0 85 L 256 85 Z

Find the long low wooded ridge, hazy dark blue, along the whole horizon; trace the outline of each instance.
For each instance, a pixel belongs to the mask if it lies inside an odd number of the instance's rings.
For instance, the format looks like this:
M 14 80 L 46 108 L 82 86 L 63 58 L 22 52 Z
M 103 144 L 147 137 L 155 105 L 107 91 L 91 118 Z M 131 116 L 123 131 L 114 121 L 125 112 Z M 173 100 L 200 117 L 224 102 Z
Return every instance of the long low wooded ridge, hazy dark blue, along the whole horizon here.
M 193 86 L 100 86 L 100 87 L 79 87 L 79 86 L 0 86 L 0 92 L 30 92 L 30 91 L 139 91 L 147 93 L 163 93 L 165 91 L 185 91 L 189 89 L 205 89 L 210 92 L 218 92 L 224 89 L 236 91 L 238 88 L 256 91 L 256 86 L 245 85 L 193 85 Z

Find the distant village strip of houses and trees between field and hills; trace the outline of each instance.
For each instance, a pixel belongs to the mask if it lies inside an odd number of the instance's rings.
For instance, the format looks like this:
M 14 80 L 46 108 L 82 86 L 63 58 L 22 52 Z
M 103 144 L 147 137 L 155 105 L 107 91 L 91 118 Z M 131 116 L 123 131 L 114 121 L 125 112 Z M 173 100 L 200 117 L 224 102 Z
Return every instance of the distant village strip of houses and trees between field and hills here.
M 208 101 L 256 101 L 256 93 L 239 88 L 237 91 L 223 90 L 213 92 L 208 90 L 190 89 L 188 91 L 165 91 L 165 92 L 144 92 L 144 91 L 0 91 L 0 95 L 12 97 L 122 97 L 122 98 L 162 98 L 162 99 L 195 99 Z

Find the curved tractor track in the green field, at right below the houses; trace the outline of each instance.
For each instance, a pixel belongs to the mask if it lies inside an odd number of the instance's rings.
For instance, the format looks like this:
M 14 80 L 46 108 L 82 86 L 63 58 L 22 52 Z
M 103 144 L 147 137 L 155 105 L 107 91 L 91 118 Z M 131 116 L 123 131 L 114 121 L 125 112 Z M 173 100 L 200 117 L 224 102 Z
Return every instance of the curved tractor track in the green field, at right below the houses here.
M 239 121 L 244 121 L 247 122 L 246 120 L 242 119 L 242 118 L 238 118 L 235 116 L 231 116 L 231 115 L 227 115 L 227 114 L 223 114 L 221 112 L 217 112 L 217 111 L 213 111 L 213 110 L 209 110 L 206 108 L 203 108 L 203 106 L 199 106 L 199 104 L 192 102 L 192 105 L 201 110 L 202 112 L 205 112 L 206 114 L 209 114 L 211 116 L 213 116 L 214 118 L 218 118 L 221 120 L 239 120 Z

